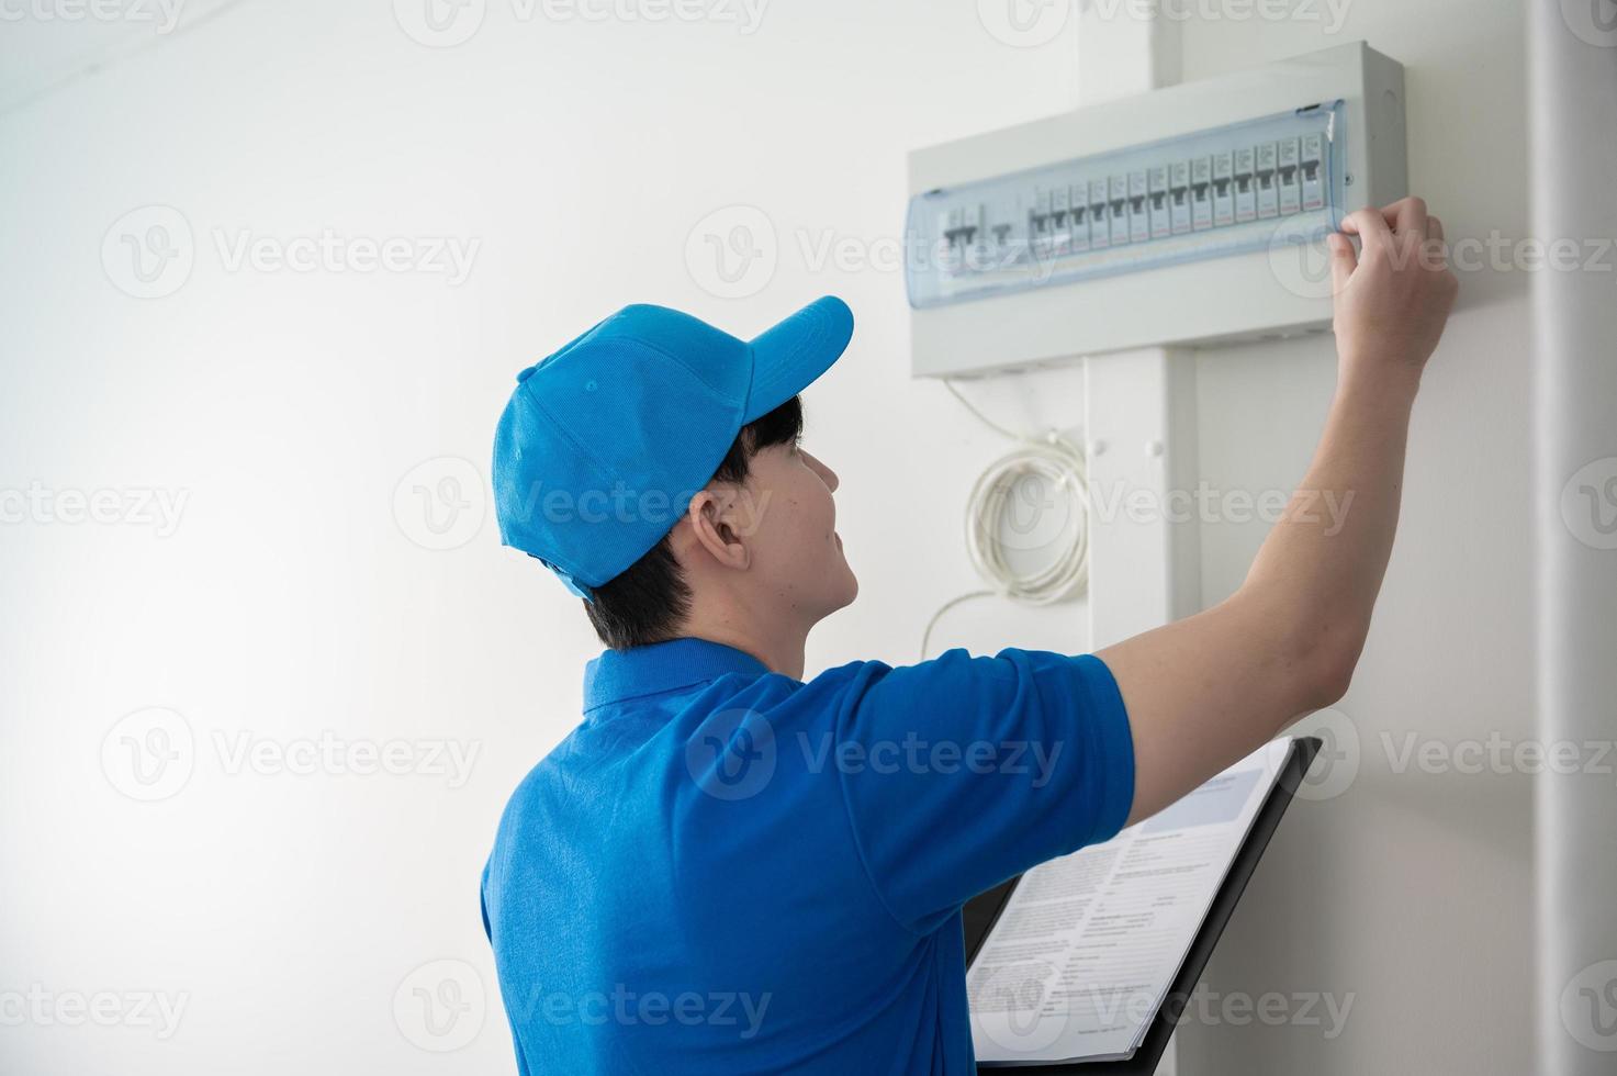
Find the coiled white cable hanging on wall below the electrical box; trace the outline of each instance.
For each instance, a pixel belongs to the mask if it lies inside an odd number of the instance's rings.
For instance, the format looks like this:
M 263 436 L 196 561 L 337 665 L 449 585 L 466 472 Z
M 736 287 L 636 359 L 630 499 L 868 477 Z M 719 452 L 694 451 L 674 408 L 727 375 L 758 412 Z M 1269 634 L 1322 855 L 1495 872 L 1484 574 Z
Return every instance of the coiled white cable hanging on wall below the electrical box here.
M 960 602 L 998 594 L 1024 605 L 1049 605 L 1080 591 L 1090 576 L 1090 494 L 1083 450 L 1056 430 L 1041 437 L 1014 434 L 973 408 L 952 382 L 944 380 L 943 385 L 983 426 L 1019 443 L 988 464 L 988 469 L 972 485 L 972 494 L 965 502 L 965 555 L 991 589 L 962 594 L 933 613 L 931 620 L 927 621 L 925 633 L 922 633 L 922 660 L 927 659 L 931 631 L 938 620 Z M 1001 532 L 1006 513 L 1012 508 L 1011 498 L 1025 489 L 1028 481 L 1038 481 L 1048 494 L 1064 497 L 1067 502 L 1067 516 L 1064 518 L 1072 523 L 1064 527 L 1066 540 L 1056 549 L 1053 558 L 1032 571 L 1017 571 L 1006 557 L 1007 550 Z

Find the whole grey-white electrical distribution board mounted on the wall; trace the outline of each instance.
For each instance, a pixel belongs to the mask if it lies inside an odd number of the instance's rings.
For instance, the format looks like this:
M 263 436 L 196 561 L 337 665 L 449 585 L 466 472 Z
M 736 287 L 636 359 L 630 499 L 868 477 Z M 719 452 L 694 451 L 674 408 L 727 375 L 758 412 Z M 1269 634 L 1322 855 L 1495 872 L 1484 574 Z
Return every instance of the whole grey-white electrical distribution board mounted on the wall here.
M 1321 330 L 1324 236 L 1407 193 L 1404 71 L 1355 42 L 909 165 L 918 375 Z

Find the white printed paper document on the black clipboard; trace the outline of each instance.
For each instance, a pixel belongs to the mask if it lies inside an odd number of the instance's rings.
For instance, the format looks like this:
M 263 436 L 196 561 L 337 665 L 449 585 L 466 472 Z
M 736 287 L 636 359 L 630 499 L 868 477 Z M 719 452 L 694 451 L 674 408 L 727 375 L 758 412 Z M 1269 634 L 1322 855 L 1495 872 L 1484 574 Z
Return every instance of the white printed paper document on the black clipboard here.
M 1277 739 L 1011 892 L 967 972 L 977 1060 L 1132 1057 L 1290 752 Z

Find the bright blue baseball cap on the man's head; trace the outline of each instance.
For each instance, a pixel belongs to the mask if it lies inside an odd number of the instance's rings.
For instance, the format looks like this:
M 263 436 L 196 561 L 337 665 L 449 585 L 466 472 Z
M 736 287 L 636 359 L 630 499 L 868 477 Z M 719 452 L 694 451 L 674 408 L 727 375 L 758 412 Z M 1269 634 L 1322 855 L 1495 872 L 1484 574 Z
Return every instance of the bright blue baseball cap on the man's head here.
M 741 427 L 825 374 L 852 335 L 836 296 L 750 341 L 626 306 L 516 375 L 495 430 L 500 539 L 593 600 L 679 523 Z

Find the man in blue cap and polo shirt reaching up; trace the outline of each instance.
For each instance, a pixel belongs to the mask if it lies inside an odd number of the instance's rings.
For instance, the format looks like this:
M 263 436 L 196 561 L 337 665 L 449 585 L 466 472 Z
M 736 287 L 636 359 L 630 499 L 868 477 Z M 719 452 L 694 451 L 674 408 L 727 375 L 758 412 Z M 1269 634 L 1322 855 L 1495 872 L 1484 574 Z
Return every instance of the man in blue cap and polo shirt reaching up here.
M 1420 199 L 1344 231 L 1308 492 L 1234 595 L 1098 655 L 805 680 L 808 631 L 857 594 L 838 477 L 799 445 L 797 393 L 852 337 L 839 299 L 750 341 L 631 306 L 517 375 L 501 534 L 608 647 L 483 872 L 519 1071 L 975 1073 L 960 906 L 1347 688 L 1455 280 Z

